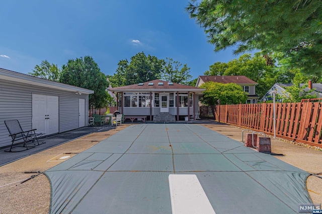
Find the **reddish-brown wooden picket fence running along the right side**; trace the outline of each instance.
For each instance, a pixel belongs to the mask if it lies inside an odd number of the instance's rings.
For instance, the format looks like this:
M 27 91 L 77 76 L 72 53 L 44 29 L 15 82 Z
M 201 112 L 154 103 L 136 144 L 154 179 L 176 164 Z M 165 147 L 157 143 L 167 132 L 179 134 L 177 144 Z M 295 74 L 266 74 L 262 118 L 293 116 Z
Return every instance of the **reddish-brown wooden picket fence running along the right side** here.
M 217 121 L 273 135 L 273 103 L 217 105 Z M 276 136 L 322 147 L 322 103 L 276 103 Z

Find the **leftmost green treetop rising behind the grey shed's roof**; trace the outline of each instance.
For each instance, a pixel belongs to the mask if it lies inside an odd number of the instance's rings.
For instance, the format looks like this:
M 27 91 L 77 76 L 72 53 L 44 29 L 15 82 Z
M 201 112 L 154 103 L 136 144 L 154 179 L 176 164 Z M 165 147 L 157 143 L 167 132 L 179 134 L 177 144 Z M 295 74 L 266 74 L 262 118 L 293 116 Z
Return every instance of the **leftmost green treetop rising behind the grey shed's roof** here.
M 60 72 L 61 70 L 57 65 L 50 64 L 47 60 L 43 60 L 40 65 L 36 65 L 32 72 L 28 72 L 28 74 L 57 82 L 59 81 Z

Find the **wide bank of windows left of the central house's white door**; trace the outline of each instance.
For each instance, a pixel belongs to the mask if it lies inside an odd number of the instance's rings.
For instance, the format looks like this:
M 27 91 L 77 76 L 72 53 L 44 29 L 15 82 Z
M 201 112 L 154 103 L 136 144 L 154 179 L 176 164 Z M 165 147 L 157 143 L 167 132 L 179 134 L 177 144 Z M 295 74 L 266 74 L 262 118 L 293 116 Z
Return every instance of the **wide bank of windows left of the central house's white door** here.
M 149 107 L 150 103 L 149 93 L 124 93 L 124 107 Z

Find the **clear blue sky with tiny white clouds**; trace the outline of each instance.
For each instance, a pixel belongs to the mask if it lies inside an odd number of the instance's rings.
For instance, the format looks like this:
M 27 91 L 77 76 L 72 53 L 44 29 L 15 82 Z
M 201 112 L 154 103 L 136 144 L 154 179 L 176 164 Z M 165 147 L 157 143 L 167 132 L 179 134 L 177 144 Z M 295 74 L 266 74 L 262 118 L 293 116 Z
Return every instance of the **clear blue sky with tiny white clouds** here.
M 113 75 L 117 63 L 138 52 L 187 64 L 203 75 L 214 62 L 237 58 L 215 53 L 185 8 L 187 0 L 2 1 L 0 67 L 28 73 L 42 60 L 66 64 L 90 55 Z

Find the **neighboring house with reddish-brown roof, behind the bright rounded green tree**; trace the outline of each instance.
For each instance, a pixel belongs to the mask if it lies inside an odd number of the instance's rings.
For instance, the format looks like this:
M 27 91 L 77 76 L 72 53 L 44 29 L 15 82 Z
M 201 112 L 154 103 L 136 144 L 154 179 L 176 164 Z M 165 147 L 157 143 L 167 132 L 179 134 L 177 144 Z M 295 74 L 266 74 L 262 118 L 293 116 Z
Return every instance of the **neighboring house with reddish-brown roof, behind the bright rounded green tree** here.
M 196 87 L 199 87 L 205 82 L 220 82 L 220 83 L 235 83 L 243 87 L 244 91 L 249 93 L 246 103 L 257 103 L 259 98 L 256 95 L 257 82 L 246 76 L 198 76 Z

